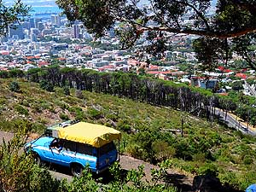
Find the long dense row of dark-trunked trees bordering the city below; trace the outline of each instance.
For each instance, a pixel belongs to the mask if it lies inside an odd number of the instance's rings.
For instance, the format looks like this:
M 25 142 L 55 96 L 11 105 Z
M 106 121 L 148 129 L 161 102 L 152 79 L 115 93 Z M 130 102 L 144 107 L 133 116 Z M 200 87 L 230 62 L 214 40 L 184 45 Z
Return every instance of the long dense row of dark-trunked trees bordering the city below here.
M 50 90 L 53 90 L 53 86 L 68 86 L 77 90 L 95 91 L 152 105 L 177 108 L 207 117 L 211 115 L 209 106 L 227 110 L 230 110 L 231 106 L 236 109 L 235 103 L 213 97 L 212 92 L 208 90 L 138 76 L 135 73 L 97 73 L 92 70 L 51 66 L 44 69 L 31 69 L 26 73 L 17 69 L 0 73 L 0 78 L 8 77 L 24 77 L 32 82 L 43 84 L 44 87 L 51 88 Z M 227 106 L 225 105 L 227 103 L 231 104 Z

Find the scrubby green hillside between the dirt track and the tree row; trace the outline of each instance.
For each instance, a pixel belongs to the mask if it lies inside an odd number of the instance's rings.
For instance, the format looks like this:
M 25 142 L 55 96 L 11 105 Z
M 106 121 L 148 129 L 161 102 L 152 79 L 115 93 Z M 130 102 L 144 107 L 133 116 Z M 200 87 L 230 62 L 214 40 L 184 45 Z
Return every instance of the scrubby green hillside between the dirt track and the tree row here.
M 253 137 L 186 112 L 119 95 L 82 90 L 83 97 L 78 98 L 72 88 L 70 96 L 66 96 L 62 88 L 48 92 L 26 79 L 16 79 L 21 93 L 15 93 L 8 88 L 12 81 L 0 79 L 1 130 L 18 131 L 16 124 L 21 118 L 32 122 L 33 132 L 44 131 L 46 125 L 62 121 L 61 117 L 80 119 L 123 131 L 123 154 L 152 163 L 171 158 L 172 168 L 195 175 L 210 173 L 235 189 L 245 189 L 256 176 Z M 13 110 L 17 105 L 27 109 L 25 117 Z M 181 130 L 182 126 L 183 135 L 172 131 Z

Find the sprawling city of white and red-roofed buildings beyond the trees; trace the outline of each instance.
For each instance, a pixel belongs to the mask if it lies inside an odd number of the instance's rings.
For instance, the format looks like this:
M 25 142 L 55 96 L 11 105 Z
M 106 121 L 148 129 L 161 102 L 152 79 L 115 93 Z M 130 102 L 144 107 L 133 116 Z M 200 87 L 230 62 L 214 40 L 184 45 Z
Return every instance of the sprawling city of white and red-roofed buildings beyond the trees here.
M 18 68 L 60 67 L 92 69 L 98 72 L 122 71 L 145 73 L 158 79 L 172 80 L 226 94 L 234 80 L 254 79 L 253 70 L 218 67 L 213 72 L 201 71 L 191 42 L 195 37 L 177 34 L 172 38 L 172 47 L 161 59 L 146 54 L 147 60 L 137 57 L 136 49 L 120 49 L 114 27 L 104 38 L 95 38 L 81 22 L 70 25 L 65 16 L 58 13 L 34 15 L 15 29 L 9 28 L 1 39 L 0 70 Z M 145 39 L 137 47 L 147 44 Z M 145 58 L 144 57 L 144 58 Z M 233 55 L 234 61 L 241 61 Z M 234 62 L 231 61 L 231 62 Z M 230 62 L 230 63 L 231 63 Z M 225 84 L 220 86 L 220 84 Z M 254 85 L 243 84 L 243 93 L 255 96 Z

